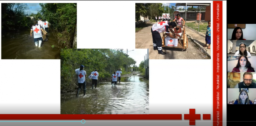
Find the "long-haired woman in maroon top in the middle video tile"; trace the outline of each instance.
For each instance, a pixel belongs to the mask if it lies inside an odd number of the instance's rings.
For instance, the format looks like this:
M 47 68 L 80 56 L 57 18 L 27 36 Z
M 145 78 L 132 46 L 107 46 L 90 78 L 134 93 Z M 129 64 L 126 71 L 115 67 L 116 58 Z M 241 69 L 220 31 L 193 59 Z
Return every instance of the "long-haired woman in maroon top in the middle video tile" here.
M 240 56 L 236 67 L 232 72 L 255 72 L 254 68 L 251 67 L 251 63 L 248 61 L 246 56 Z

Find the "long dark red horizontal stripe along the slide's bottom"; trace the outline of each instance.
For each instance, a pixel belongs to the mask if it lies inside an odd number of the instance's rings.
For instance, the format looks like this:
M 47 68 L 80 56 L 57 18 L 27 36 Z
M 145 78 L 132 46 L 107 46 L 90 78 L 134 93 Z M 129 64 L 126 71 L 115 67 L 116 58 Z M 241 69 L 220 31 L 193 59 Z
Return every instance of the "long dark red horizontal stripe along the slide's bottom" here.
M 0 114 L 0 120 L 181 120 L 181 114 Z

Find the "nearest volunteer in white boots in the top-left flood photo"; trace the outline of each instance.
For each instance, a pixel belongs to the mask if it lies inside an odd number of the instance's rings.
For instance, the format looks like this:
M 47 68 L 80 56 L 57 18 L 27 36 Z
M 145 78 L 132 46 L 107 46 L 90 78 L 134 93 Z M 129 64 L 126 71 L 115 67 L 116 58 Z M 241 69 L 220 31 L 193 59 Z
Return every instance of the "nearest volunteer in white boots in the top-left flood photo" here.
M 34 31 L 33 32 L 34 42 L 36 44 L 36 47 L 38 46 L 39 48 L 41 48 L 41 44 L 42 44 L 42 41 L 43 41 L 42 32 L 41 32 L 40 29 L 43 31 L 44 35 L 46 35 L 46 33 L 43 30 L 43 27 L 41 25 L 39 25 L 37 21 L 36 21 L 36 24 L 33 25 L 30 29 L 30 36 L 32 37 L 32 31 Z M 39 44 L 38 44 L 38 41 L 39 41 Z

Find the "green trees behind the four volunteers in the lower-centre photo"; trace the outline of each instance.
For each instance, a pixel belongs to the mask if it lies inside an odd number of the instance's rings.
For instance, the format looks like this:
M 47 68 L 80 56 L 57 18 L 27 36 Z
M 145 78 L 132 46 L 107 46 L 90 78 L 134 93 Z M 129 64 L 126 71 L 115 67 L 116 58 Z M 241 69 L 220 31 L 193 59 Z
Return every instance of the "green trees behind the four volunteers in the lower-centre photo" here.
M 61 49 L 61 92 L 74 91 L 77 87 L 77 75 L 75 69 L 84 65 L 87 76 L 98 69 L 99 81 L 108 81 L 113 71 L 122 69 L 122 75 L 131 73 L 130 68 L 139 69 L 135 66 L 136 61 L 126 55 L 123 49 Z M 126 72 L 126 65 L 128 71 Z M 133 67 L 129 67 L 133 65 Z M 86 84 L 90 80 L 86 78 Z

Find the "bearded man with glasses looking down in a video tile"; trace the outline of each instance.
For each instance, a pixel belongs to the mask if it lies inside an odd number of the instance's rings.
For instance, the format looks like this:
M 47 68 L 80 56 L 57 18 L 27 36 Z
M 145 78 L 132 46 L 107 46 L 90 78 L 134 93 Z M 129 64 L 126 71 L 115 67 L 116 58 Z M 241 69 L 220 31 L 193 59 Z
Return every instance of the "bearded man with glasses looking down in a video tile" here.
M 245 72 L 243 74 L 243 82 L 236 84 L 234 88 L 256 88 L 256 83 L 253 81 L 253 75 L 251 72 Z

